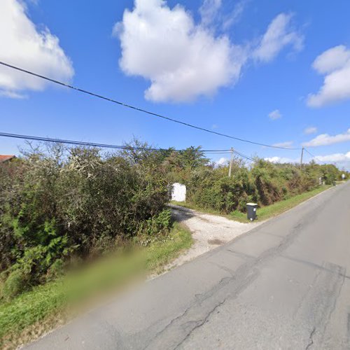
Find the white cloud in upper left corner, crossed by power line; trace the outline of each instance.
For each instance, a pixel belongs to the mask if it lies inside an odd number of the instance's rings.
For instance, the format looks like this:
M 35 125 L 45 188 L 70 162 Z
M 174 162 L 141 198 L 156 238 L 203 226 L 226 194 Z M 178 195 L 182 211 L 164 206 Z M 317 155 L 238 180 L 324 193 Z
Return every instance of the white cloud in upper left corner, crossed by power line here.
M 57 80 L 73 77 L 71 61 L 48 28 L 39 32 L 20 0 L 0 1 L 0 60 Z M 20 98 L 24 90 L 43 90 L 40 78 L 0 67 L 0 94 Z

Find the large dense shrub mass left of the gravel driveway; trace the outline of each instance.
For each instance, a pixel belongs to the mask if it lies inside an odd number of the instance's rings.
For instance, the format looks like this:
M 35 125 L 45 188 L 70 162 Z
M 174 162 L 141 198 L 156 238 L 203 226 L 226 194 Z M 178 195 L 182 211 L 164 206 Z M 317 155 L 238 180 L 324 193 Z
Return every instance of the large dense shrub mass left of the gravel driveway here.
M 54 278 L 72 257 L 99 255 L 169 228 L 169 189 L 151 155 L 59 146 L 0 167 L 3 295 Z

